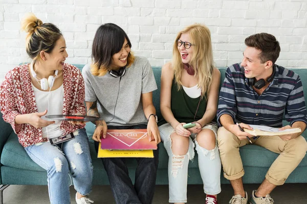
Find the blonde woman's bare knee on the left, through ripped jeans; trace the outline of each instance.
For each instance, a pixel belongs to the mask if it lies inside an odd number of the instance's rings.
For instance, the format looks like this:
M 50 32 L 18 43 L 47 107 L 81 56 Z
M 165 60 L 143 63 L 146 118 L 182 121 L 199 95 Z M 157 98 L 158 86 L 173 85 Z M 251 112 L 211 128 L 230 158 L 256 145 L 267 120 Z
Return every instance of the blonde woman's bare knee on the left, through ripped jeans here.
M 189 149 L 189 138 L 172 133 L 171 136 L 171 150 L 173 155 L 186 155 Z

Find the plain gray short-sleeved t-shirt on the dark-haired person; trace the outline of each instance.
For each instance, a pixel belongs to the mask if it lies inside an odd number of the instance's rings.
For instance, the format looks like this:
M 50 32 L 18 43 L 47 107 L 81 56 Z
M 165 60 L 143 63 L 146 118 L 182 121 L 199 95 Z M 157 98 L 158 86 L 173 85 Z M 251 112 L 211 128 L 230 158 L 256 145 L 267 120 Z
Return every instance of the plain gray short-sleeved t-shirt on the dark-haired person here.
M 100 117 L 108 125 L 124 126 L 147 124 L 141 94 L 157 89 L 152 68 L 145 57 L 135 57 L 123 77 L 114 78 L 109 73 L 94 76 L 91 65 L 82 69 L 85 84 L 85 101 L 96 101 Z

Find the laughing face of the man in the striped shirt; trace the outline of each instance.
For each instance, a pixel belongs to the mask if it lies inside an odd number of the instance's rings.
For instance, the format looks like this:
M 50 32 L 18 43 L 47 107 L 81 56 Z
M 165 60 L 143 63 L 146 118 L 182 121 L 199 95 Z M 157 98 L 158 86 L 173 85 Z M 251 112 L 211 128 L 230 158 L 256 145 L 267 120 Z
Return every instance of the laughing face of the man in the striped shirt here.
M 266 63 L 261 63 L 259 54 L 261 50 L 255 47 L 246 47 L 243 53 L 243 60 L 241 66 L 244 67 L 244 73 L 246 78 L 266 79 Z

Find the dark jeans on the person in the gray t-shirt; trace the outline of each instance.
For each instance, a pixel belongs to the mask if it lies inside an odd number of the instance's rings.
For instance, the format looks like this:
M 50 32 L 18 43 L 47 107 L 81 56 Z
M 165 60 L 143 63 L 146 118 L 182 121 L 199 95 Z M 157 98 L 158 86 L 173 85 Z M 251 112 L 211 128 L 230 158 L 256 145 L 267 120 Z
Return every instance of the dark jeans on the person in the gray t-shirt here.
M 108 126 L 112 129 L 147 129 L 147 125 Z M 95 142 L 98 150 L 98 142 Z M 159 146 L 153 150 L 154 158 L 135 158 L 138 162 L 135 185 L 132 184 L 125 158 L 102 158 L 105 171 L 117 204 L 149 204 L 152 202 L 159 162 Z

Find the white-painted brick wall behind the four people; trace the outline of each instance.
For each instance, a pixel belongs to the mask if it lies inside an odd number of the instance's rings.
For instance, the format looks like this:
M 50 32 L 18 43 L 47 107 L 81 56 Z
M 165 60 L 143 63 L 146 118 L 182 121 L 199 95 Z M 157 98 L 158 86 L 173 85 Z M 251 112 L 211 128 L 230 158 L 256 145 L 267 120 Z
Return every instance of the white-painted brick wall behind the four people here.
M 279 65 L 307 68 L 307 0 L 0 0 L 0 82 L 9 69 L 30 61 L 20 32 L 27 12 L 58 25 L 69 63 L 90 62 L 95 31 L 113 22 L 127 32 L 137 55 L 162 66 L 177 33 L 200 22 L 211 31 L 216 66 L 240 62 L 244 39 L 268 32 L 281 43 Z

